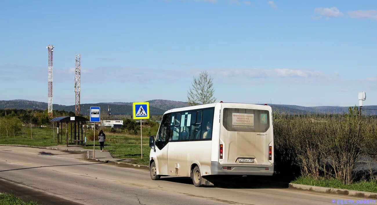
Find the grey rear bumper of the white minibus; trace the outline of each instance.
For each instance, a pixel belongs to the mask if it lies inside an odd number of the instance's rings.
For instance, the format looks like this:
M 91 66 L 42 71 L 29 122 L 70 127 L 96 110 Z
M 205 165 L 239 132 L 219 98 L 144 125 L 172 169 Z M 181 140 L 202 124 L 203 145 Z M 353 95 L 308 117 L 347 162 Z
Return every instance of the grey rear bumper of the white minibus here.
M 225 169 L 225 167 L 227 167 Z M 230 167 L 230 168 L 229 168 Z M 211 162 L 211 175 L 264 175 L 272 176 L 274 164 L 272 165 L 241 165 L 241 164 L 220 164 Z

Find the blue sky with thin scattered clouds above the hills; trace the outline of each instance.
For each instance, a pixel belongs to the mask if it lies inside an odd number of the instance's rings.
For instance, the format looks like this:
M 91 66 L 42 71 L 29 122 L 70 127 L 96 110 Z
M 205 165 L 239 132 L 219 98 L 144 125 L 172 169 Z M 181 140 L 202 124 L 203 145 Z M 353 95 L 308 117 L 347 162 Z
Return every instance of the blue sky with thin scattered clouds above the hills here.
M 0 100 L 187 100 L 213 77 L 218 101 L 377 105 L 377 2 L 264 0 L 0 1 Z

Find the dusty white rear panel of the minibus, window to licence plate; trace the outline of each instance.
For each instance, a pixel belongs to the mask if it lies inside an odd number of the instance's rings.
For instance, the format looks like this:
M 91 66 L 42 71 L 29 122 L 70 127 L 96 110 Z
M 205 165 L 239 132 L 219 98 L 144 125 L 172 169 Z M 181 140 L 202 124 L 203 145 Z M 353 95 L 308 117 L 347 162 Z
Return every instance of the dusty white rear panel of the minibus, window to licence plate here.
M 220 144 L 223 146 L 220 164 L 271 165 L 268 160 L 269 145 L 273 144 L 271 117 L 269 110 L 247 106 L 224 108 L 223 126 L 220 128 Z

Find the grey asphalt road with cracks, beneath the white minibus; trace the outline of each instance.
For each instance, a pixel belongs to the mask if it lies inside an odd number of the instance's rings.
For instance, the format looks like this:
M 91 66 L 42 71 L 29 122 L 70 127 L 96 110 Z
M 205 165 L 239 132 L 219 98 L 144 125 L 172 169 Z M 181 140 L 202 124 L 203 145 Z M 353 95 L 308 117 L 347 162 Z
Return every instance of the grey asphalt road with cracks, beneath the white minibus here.
M 43 204 L 333 204 L 333 199 L 363 199 L 267 185 L 257 179 L 251 186 L 241 179 L 218 187 L 195 187 L 183 177 L 152 181 L 146 170 L 89 162 L 84 157 L 0 146 L 0 191 L 16 190 L 15 195 Z

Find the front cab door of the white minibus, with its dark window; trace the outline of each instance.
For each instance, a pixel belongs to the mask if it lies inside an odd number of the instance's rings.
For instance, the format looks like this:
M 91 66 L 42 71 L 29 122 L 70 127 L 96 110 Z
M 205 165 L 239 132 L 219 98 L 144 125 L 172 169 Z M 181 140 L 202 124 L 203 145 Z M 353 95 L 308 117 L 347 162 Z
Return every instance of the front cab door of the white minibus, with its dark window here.
M 158 175 L 168 175 L 167 154 L 170 136 L 170 116 L 165 114 L 162 117 L 161 125 L 156 136 L 156 167 Z

